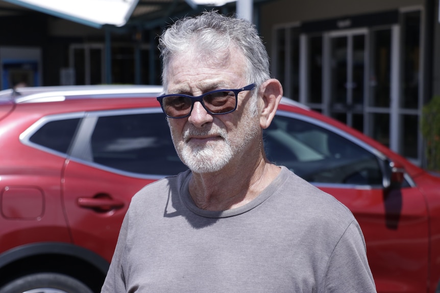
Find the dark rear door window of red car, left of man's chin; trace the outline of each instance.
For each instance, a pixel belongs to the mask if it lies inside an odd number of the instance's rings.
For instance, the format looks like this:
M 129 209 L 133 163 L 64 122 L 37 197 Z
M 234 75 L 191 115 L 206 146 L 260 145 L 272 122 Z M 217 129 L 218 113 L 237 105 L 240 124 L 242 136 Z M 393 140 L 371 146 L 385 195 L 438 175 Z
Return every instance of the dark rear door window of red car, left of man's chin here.
M 162 113 L 99 117 L 91 152 L 94 163 L 127 172 L 174 175 L 187 169 Z

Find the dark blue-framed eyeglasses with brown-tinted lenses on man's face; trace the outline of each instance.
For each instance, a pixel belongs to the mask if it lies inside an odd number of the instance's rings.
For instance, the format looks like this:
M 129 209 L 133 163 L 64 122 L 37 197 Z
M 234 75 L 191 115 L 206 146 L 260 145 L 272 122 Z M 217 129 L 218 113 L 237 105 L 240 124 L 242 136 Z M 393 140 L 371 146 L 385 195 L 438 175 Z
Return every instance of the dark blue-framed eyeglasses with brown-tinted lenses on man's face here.
M 237 90 L 216 90 L 198 97 L 170 94 L 157 97 L 163 113 L 169 118 L 185 118 L 191 115 L 195 102 L 200 102 L 206 112 L 213 115 L 227 114 L 237 109 L 238 93 L 251 91 L 255 84 Z

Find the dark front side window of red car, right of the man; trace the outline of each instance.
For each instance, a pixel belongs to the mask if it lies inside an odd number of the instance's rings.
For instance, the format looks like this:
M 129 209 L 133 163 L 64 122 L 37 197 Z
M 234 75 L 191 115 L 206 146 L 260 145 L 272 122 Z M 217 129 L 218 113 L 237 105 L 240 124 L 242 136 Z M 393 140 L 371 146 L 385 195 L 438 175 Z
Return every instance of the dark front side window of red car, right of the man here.
M 264 131 L 267 158 L 307 181 L 376 185 L 382 183 L 377 157 L 315 124 L 276 116 Z

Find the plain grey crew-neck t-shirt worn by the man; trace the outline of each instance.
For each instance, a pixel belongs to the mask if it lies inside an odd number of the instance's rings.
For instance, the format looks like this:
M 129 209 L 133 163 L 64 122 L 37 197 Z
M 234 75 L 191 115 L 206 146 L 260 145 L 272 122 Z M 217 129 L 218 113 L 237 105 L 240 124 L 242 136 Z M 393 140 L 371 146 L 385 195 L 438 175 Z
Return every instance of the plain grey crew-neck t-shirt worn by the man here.
M 198 208 L 190 178 L 133 197 L 102 293 L 376 292 L 351 212 L 288 169 L 226 211 Z

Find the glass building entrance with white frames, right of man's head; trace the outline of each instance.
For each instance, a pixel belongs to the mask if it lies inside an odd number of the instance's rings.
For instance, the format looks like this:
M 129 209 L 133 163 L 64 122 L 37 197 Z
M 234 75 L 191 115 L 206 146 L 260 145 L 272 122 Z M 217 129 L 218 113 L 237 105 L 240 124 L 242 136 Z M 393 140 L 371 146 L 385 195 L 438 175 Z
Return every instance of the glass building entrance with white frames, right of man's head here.
M 285 95 L 421 163 L 421 11 L 279 25 L 272 70 Z

